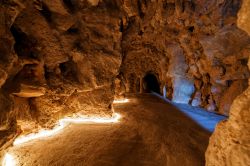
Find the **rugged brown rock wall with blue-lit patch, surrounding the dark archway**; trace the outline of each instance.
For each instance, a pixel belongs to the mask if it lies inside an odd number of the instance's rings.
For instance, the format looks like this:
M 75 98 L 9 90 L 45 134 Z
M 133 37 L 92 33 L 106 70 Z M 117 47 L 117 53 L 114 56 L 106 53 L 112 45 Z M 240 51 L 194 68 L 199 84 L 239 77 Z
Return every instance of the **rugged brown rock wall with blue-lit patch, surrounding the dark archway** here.
M 231 0 L 125 0 L 120 74 L 126 91 L 140 92 L 140 80 L 152 72 L 169 99 L 228 115 L 249 78 L 250 38 L 236 25 L 240 6 Z

